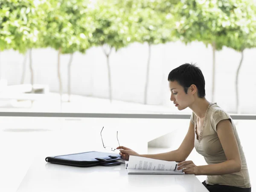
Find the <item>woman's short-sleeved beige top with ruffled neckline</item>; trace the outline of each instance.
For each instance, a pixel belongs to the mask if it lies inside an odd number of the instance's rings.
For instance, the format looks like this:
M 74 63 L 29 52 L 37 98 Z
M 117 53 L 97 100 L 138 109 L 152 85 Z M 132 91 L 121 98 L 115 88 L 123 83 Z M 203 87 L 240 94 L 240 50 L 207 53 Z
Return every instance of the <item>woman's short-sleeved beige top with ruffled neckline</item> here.
M 247 169 L 244 151 L 241 146 L 238 133 L 236 131 L 236 125 L 234 124 L 233 119 L 231 119 L 229 114 L 225 112 L 223 109 L 221 109 L 217 105 L 217 103 L 210 104 L 206 110 L 204 125 L 201 129 L 198 138 L 195 133 L 195 149 L 199 154 L 204 156 L 204 159 L 207 162 L 207 164 L 221 163 L 227 160 L 216 132 L 216 125 L 218 124 L 218 122 L 224 119 L 230 119 L 230 122 L 232 124 L 232 128 L 236 137 L 236 141 L 241 156 L 242 169 L 240 172 L 226 175 L 207 175 L 206 183 L 209 185 L 220 184 L 236 186 L 241 188 L 249 188 L 251 187 L 250 177 Z M 194 128 L 196 128 L 195 113 L 192 113 L 190 120 L 192 124 L 195 125 Z

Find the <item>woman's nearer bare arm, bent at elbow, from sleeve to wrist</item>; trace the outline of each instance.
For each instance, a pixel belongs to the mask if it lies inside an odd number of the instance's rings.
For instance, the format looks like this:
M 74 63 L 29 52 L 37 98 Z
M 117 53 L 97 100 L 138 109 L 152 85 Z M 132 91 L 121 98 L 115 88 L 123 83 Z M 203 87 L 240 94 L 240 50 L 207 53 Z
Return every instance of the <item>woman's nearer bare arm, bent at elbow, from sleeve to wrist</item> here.
M 241 157 L 230 120 L 221 120 L 217 126 L 217 134 L 227 157 L 222 163 L 198 166 L 200 175 L 224 175 L 241 171 Z

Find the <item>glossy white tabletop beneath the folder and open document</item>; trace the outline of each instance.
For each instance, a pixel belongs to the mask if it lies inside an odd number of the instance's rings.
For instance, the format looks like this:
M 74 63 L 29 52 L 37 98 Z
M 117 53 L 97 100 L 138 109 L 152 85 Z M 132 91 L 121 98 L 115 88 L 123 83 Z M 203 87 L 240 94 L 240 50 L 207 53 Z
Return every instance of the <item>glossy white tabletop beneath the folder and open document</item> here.
M 128 175 L 125 165 L 79 168 L 36 158 L 17 192 L 208 192 L 195 175 Z

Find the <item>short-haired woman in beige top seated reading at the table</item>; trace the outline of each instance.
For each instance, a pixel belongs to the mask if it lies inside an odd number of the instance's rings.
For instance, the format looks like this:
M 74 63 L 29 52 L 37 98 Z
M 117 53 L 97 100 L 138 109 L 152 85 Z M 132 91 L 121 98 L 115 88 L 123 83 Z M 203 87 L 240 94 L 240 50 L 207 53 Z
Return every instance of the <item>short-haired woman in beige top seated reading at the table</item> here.
M 183 110 L 190 108 L 189 130 L 177 150 L 160 154 L 138 154 L 124 146 L 120 155 L 176 161 L 185 174 L 207 175 L 203 182 L 209 192 L 251 192 L 250 178 L 236 126 L 230 115 L 217 103 L 205 98 L 205 81 L 201 70 L 194 64 L 183 64 L 168 76 L 171 101 Z M 196 166 L 186 158 L 195 147 L 208 165 Z

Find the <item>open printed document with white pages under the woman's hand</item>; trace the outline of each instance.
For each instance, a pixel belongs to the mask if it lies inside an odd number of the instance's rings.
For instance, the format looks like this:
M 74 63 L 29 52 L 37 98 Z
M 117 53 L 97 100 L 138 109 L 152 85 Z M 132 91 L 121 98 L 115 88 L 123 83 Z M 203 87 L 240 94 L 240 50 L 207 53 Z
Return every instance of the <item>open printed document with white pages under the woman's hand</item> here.
M 130 156 L 125 161 L 128 174 L 172 174 L 183 175 L 182 169 L 177 170 L 175 161 L 156 160 L 147 157 Z

